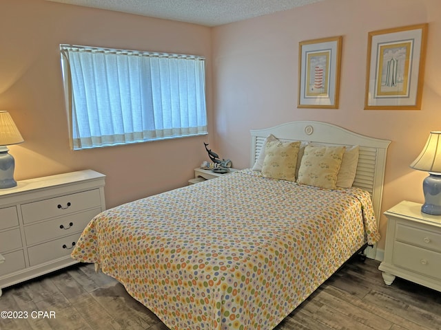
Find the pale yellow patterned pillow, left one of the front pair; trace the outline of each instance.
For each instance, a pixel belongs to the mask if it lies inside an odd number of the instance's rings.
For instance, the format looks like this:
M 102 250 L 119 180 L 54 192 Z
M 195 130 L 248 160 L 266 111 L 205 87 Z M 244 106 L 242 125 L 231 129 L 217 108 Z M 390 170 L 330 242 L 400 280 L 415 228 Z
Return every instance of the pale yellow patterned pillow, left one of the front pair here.
M 262 175 L 271 179 L 295 181 L 299 148 L 300 141 L 267 142 Z

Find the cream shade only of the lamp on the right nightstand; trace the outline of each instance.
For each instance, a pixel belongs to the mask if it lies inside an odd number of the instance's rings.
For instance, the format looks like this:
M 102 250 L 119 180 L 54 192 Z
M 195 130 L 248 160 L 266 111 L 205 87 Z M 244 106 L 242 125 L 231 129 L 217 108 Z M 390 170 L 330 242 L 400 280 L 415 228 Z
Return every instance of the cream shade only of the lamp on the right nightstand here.
M 430 132 L 426 145 L 411 168 L 431 173 L 441 173 L 441 131 Z

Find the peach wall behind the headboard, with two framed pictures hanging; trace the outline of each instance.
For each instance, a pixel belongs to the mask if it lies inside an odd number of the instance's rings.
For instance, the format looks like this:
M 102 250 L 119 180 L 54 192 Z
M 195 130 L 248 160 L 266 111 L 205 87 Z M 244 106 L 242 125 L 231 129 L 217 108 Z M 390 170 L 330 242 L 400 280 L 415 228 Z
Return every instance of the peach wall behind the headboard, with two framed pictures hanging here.
M 364 110 L 367 34 L 429 23 L 420 111 Z M 297 109 L 298 43 L 343 36 L 339 109 Z M 441 129 L 441 1 L 325 0 L 214 29 L 214 109 L 218 151 L 249 165 L 249 129 L 322 120 L 391 140 L 382 211 L 402 199 L 421 202 L 427 173 L 409 168 L 429 131 Z M 380 233 L 386 219 L 380 218 Z M 378 245 L 384 248 L 384 241 Z

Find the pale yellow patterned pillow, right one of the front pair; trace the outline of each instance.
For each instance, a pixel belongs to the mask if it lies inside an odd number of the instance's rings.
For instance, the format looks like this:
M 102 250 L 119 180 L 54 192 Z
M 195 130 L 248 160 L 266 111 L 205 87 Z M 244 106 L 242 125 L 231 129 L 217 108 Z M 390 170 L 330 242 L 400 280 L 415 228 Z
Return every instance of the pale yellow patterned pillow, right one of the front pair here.
M 335 189 L 345 146 L 307 146 L 298 170 L 299 184 Z

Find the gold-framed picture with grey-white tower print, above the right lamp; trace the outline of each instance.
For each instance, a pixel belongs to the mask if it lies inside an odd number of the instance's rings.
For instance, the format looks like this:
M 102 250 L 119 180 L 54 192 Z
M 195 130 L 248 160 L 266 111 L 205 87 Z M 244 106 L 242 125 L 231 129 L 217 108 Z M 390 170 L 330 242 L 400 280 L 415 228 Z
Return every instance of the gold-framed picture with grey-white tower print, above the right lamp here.
M 365 109 L 420 110 L 427 24 L 369 32 Z

